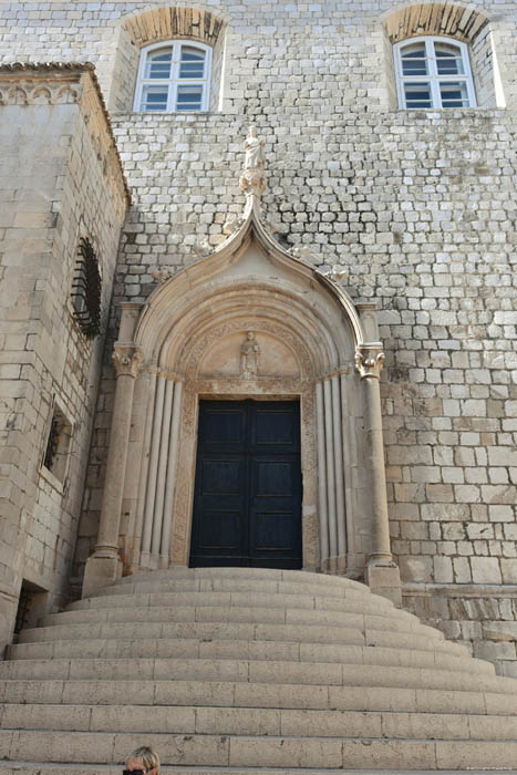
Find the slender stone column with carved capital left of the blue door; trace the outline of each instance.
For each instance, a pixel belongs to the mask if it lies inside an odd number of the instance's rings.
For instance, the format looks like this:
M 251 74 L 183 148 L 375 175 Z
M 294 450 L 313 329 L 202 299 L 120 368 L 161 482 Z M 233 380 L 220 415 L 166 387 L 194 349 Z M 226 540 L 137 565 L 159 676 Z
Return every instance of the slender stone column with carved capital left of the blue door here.
M 124 496 L 133 392 L 135 378 L 143 363 L 141 349 L 134 342 L 124 341 L 122 337 L 127 335 L 130 330 L 131 335 L 133 335 L 138 311 L 139 306 L 136 304 L 124 307 L 120 331 L 121 340 L 115 342 L 113 352 L 116 388 L 101 507 L 101 523 L 95 551 L 86 561 L 83 597 L 87 597 L 94 589 L 115 580 L 122 571 L 122 562 L 118 555 L 118 528 Z

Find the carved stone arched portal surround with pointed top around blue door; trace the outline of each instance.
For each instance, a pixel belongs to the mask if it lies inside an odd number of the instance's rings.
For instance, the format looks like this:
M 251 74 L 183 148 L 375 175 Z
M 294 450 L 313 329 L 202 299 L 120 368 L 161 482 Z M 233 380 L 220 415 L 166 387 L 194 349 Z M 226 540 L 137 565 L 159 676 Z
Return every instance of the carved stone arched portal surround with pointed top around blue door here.
M 114 358 L 126 362 L 115 403 L 125 407 L 127 442 L 118 455 L 110 448 L 108 473 L 123 458 L 126 572 L 189 562 L 207 401 L 299 406 L 303 568 L 359 577 L 366 561 L 390 565 L 373 307 L 356 309 L 287 254 L 254 197 L 223 247 L 163 282 L 144 309 L 124 306 Z M 110 493 L 92 568 L 95 559 L 115 562 L 110 520 L 121 516 L 110 517 Z

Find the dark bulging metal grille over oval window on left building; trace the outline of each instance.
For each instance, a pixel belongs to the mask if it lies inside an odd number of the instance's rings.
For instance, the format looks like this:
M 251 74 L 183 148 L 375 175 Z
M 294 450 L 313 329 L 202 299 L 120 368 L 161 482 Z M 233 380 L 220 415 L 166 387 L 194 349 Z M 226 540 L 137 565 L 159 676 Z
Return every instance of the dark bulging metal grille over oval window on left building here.
M 74 318 L 81 331 L 93 339 L 101 332 L 101 273 L 91 241 L 81 237 L 72 283 Z

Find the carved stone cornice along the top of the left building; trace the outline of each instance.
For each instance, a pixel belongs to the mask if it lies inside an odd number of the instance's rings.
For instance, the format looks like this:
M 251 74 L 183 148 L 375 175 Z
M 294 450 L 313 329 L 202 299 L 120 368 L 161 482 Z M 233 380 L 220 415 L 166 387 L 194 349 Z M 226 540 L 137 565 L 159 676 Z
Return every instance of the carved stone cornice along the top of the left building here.
M 0 64 L 0 105 L 80 104 L 83 90 L 73 89 L 71 84 L 80 85 L 84 79 L 90 80 L 95 100 L 99 102 L 110 138 L 110 151 L 116 158 L 126 204 L 131 206 L 131 194 L 116 147 L 112 123 L 95 75 L 95 68 L 91 62 L 10 62 Z

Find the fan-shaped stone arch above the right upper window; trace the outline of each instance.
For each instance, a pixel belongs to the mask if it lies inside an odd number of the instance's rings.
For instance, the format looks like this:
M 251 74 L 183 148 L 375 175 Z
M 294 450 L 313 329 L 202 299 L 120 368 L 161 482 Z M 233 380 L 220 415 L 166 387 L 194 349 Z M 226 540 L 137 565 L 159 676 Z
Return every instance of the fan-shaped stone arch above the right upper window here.
M 466 6 L 425 2 L 391 13 L 384 22 L 391 43 L 420 35 L 445 35 L 469 43 L 488 19 Z

